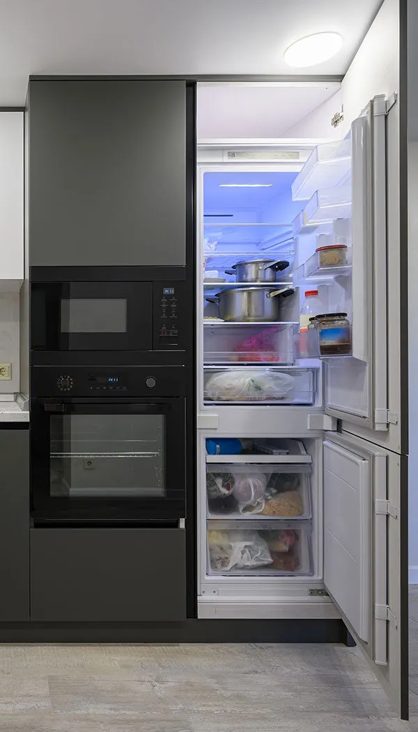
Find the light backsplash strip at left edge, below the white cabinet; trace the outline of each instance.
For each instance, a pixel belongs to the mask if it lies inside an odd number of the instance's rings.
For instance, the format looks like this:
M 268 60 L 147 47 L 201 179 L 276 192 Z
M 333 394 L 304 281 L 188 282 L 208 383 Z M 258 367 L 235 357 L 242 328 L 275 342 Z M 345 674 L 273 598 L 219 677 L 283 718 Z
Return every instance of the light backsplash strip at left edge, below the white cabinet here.
M 0 293 L 0 363 L 12 364 L 12 380 L 0 381 L 0 395 L 19 389 L 19 293 Z

